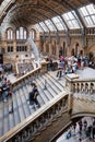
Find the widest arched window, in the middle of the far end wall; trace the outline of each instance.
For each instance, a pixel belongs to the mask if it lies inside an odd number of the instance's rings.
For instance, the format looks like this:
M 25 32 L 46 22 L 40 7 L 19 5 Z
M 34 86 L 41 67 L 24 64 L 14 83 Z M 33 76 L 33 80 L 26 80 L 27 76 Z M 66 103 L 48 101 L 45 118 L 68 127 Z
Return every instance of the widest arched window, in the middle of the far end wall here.
M 27 38 L 27 32 L 24 27 L 20 27 L 16 29 L 16 39 L 26 39 Z

